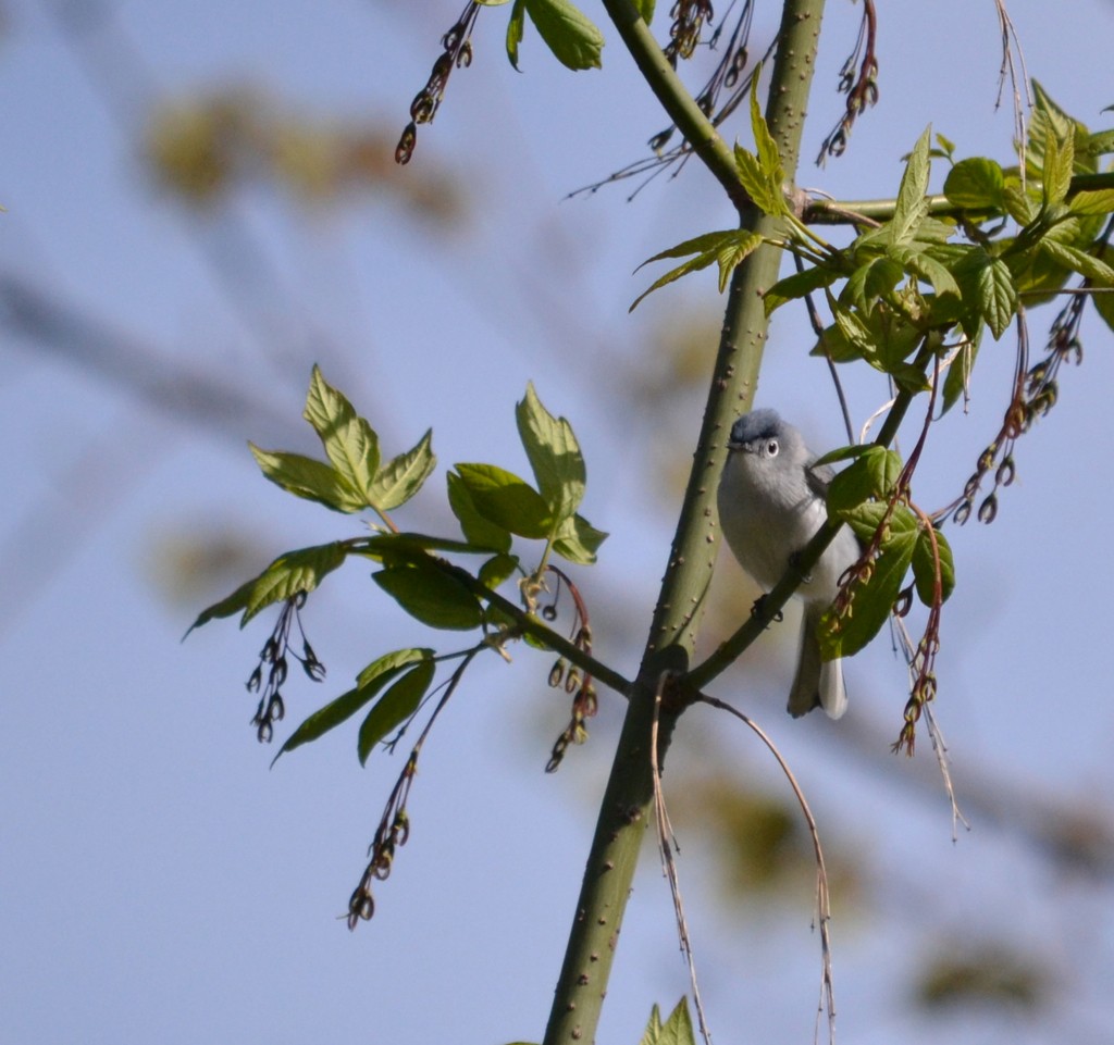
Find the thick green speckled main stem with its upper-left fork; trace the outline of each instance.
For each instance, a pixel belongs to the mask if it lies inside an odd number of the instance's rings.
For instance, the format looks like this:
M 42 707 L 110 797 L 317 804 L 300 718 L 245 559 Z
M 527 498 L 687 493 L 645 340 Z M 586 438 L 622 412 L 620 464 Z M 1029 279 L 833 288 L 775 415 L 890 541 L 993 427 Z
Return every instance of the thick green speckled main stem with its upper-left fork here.
M 668 115 L 686 135 L 691 128 L 693 133 L 703 134 L 707 128 L 703 128 L 700 120 L 693 119 L 688 125 L 682 123 L 692 117 L 695 106 L 629 0 L 604 0 L 604 4 Z M 766 120 L 789 177 L 797 169 L 822 12 L 823 0 L 789 0 L 782 12 Z M 698 109 L 695 111 L 707 124 L 703 114 Z M 729 175 L 722 160 L 726 147 L 714 129 L 711 137 L 693 144 L 696 154 L 721 183 L 725 183 Z M 734 180 L 733 162 L 730 163 L 730 178 Z M 745 203 L 737 186 L 725 184 L 725 187 L 740 208 L 744 228 L 765 234 L 775 231 L 769 218 Z M 731 281 L 720 351 L 688 487 L 642 667 L 631 692 L 600 804 L 545 1045 L 595 1041 L 638 852 L 652 819 L 648 816 L 653 800 L 649 738 L 656 699 L 670 673 L 683 674 L 687 670 L 703 616 L 720 541 L 715 492 L 726 452 L 724 436 L 733 419 L 750 408 L 754 395 L 766 339 L 762 294 L 776 280 L 780 261 L 780 251 L 762 247 L 735 270 Z M 675 715 L 675 707 L 666 700 L 658 735 L 658 764 L 664 764 Z

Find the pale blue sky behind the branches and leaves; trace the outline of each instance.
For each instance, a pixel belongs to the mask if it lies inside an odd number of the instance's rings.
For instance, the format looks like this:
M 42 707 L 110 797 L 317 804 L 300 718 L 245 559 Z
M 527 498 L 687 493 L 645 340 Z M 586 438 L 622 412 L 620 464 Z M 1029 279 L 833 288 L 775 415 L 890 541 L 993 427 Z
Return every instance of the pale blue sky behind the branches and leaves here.
M 722 302 L 704 274 L 631 318 L 655 274 L 631 273 L 678 240 L 726 227 L 731 214 L 695 165 L 629 205 L 625 188 L 563 199 L 642 156 L 664 126 L 614 32 L 604 26 L 604 70 L 576 76 L 528 33 L 519 75 L 501 52 L 506 11 L 482 12 L 476 60 L 453 75 L 412 165 L 414 176 L 456 172 L 475 209 L 455 232 L 390 198 L 313 213 L 266 187 L 204 218 L 156 192 L 137 163 L 153 104 L 219 85 L 401 129 L 459 7 L 121 3 L 115 28 L 95 25 L 78 43 L 53 4 L 7 4 L 0 280 L 30 282 L 144 359 L 236 389 L 251 409 L 204 429 L 167 416 L 75 357 L 17 338 L 0 304 L 0 1042 L 498 1045 L 541 1035 L 617 735 L 616 699 L 603 694 L 590 743 L 547 777 L 567 714 L 545 687 L 548 661 L 522 650 L 510 667 L 478 665 L 427 745 L 413 837 L 378 889 L 377 916 L 350 935 L 336 916 L 398 760 L 377 754 L 361 769 L 352 729 L 268 772 L 273 752 L 255 743 L 242 685 L 270 622 L 245 633 L 209 625 L 182 645 L 201 603 L 168 602 L 156 582 L 168 535 L 240 528 L 262 563 L 352 533 L 352 520 L 264 482 L 245 448 L 312 448 L 299 416 L 314 361 L 389 448 L 432 423 L 441 472 L 456 460 L 525 468 L 512 407 L 532 379 L 573 421 L 589 468 L 585 514 L 613 535 L 599 568 L 578 574 L 612 622 L 597 629 L 597 653 L 632 670 L 675 518 L 675 492 L 663 496 L 656 479 L 658 437 L 664 428 L 684 459 L 700 403 L 677 428 L 675 418 L 632 416 L 626 392 L 656 328 L 704 309 L 714 331 Z M 755 50 L 774 25 L 768 7 Z M 603 25 L 597 6 L 585 9 Z M 1030 74 L 1093 127 L 1114 123 L 1098 111 L 1114 101 L 1114 8 L 1009 9 Z M 830 88 L 858 13 L 831 4 L 805 156 L 840 111 Z M 844 159 L 805 167 L 801 182 L 842 197 L 889 195 L 929 121 L 960 155 L 1007 162 L 993 2 L 886 4 L 880 17 L 880 105 Z M 138 94 L 135 55 L 152 77 Z M 273 282 L 235 261 L 241 282 L 229 281 L 206 260 L 243 257 L 247 243 L 265 252 Z M 1049 318 L 1034 316 L 1034 352 Z M 998 521 L 952 533 L 960 586 L 945 616 L 938 715 L 960 801 L 965 781 L 988 777 L 1022 807 L 1047 794 L 1110 824 L 1102 593 L 1114 583 L 1114 360 L 1105 328 L 1088 320 L 1084 331 L 1084 367 L 1064 371 L 1059 407 L 1023 440 Z M 841 424 L 822 365 L 802 363 L 808 343 L 803 318 L 780 314 L 759 400 L 830 446 Z M 1009 336 L 984 350 L 970 414 L 941 426 L 922 469 L 926 507 L 962 487 L 994 433 L 1013 353 Z M 850 391 L 858 422 L 883 398 L 870 379 Z M 442 481 L 439 472 L 416 504 L 416 528 L 443 521 Z M 737 583 L 730 564 L 722 576 Z M 314 596 L 304 621 L 329 678 L 292 681 L 287 727 L 378 653 L 423 637 L 359 568 Z M 1108 878 L 1068 875 L 985 814 L 952 846 L 939 788 L 901 787 L 930 766 L 927 741 L 913 764 L 883 755 L 877 769 L 854 753 L 851 733 L 878 731 L 871 742 L 883 751 L 899 724 L 903 672 L 886 639 L 850 665 L 844 722 L 791 722 L 781 707 L 792 635 L 786 626 L 771 637 L 766 672 L 740 668 L 715 692 L 771 730 L 829 843 L 869 860 L 856 914 L 834 899 L 841 1038 L 1108 1041 Z M 782 788 L 751 738 L 694 712 L 671 754 L 677 779 L 684 763 L 711 756 Z M 811 893 L 725 915 L 701 846 L 680 827 L 716 1039 L 809 1041 L 819 979 Z M 1052 1006 L 1036 1020 L 975 1012 L 919 1023 L 909 976 L 934 940 L 957 936 L 1043 956 L 1058 988 Z M 686 987 L 647 853 L 599 1041 L 636 1042 L 651 1004 L 672 1007 Z

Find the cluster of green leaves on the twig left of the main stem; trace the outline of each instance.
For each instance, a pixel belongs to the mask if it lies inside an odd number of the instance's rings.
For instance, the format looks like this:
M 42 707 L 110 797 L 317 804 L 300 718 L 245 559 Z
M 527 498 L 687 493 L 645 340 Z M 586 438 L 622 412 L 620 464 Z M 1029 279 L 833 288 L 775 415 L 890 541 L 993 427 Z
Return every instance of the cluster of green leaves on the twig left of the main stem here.
M 545 648 L 568 646 L 535 613 L 548 560 L 559 556 L 589 565 L 607 535 L 577 510 L 587 477 L 569 422 L 549 413 L 532 385 L 515 413 L 534 485 L 496 465 L 457 465 L 447 477 L 447 496 L 463 539 L 404 533 L 391 512 L 410 501 L 432 475 L 437 459 L 431 432 L 384 462 L 375 430 L 314 367 L 303 417 L 321 440 L 324 460 L 255 446 L 252 453 L 264 476 L 287 492 L 334 511 L 370 512 L 372 533 L 278 556 L 258 576 L 204 609 L 193 627 L 237 613 L 243 627 L 274 604 L 297 599 L 301 606 L 328 574 L 355 557 L 378 565 L 372 574 L 378 587 L 421 624 L 479 631 L 480 645 L 499 650 L 522 636 Z M 512 551 L 516 537 L 544 541 L 532 567 Z M 448 555 L 479 556 L 482 561 L 470 570 Z M 519 580 L 521 608 L 497 593 L 512 577 Z M 410 646 L 378 655 L 352 688 L 306 717 L 278 754 L 317 740 L 372 705 L 358 740 L 360 761 L 367 761 L 378 743 L 418 712 L 437 664 L 473 654 L 475 648 L 438 654 L 427 646 Z

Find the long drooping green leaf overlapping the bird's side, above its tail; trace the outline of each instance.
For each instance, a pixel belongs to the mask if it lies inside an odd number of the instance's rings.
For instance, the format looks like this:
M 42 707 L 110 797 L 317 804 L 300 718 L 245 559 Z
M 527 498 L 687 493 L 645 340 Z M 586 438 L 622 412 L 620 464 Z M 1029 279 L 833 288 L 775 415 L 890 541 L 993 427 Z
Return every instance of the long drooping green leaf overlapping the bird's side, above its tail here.
M 872 539 L 886 508 L 881 501 L 868 501 L 837 515 L 867 543 Z M 850 612 L 837 617 L 829 608 L 821 618 L 820 650 L 825 661 L 858 653 L 881 631 L 909 570 L 917 531 L 913 514 L 899 506 L 890 518 L 870 579 L 853 589 Z

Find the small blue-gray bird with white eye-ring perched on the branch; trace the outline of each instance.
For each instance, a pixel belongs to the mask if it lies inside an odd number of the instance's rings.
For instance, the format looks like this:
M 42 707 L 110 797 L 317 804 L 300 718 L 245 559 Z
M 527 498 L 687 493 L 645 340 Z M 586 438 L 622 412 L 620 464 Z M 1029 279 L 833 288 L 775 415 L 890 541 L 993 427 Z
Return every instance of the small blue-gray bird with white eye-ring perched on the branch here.
M 731 429 L 727 463 L 720 481 L 720 526 L 740 565 L 766 592 L 824 524 L 824 492 L 832 470 L 817 467 L 801 433 L 773 410 L 754 410 Z M 839 578 L 859 558 L 859 543 L 843 526 L 797 589 L 804 603 L 801 653 L 789 713 L 795 719 L 823 707 L 838 719 L 847 711 L 839 661 L 820 660 L 817 625 L 839 590 Z

